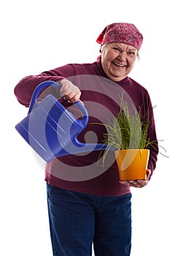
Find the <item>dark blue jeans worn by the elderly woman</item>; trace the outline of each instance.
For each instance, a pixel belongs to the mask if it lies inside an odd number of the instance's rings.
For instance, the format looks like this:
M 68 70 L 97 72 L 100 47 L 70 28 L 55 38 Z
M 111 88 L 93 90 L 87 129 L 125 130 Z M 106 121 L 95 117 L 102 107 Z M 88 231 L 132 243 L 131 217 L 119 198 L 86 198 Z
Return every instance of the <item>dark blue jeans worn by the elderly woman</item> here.
M 129 256 L 131 194 L 105 197 L 47 184 L 53 256 Z

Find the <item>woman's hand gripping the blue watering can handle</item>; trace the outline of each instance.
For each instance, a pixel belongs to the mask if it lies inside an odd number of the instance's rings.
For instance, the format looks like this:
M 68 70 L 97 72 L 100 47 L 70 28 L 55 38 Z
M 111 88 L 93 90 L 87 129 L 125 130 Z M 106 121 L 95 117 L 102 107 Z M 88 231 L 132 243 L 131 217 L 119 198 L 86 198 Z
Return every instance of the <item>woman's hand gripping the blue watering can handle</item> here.
M 70 103 L 77 102 L 80 99 L 81 91 L 77 86 L 66 79 L 61 80 L 60 96 Z

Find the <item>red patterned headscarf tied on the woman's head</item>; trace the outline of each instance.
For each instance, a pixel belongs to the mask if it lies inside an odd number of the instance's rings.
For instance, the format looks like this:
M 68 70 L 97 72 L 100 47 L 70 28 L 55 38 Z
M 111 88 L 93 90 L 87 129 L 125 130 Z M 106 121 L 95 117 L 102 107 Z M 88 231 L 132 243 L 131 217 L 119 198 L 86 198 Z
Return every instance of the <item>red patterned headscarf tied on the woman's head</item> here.
M 108 42 L 121 42 L 126 45 L 132 45 L 139 50 L 142 46 L 142 34 L 131 23 L 112 23 L 101 32 L 96 40 L 101 45 Z

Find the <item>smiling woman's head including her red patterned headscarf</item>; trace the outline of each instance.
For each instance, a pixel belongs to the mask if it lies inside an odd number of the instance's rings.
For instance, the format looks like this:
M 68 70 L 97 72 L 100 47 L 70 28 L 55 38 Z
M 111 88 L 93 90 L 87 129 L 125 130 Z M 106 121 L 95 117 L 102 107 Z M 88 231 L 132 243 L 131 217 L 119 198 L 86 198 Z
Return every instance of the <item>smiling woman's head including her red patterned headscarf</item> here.
M 134 67 L 143 36 L 131 23 L 112 23 L 97 42 L 101 44 L 101 64 L 109 79 L 123 80 Z

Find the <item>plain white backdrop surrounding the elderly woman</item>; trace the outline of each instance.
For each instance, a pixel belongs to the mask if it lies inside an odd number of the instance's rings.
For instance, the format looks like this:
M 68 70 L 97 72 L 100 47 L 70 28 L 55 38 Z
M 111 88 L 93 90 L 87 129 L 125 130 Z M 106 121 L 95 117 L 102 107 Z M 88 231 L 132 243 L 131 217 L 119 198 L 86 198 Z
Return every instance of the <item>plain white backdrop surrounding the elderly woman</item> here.
M 144 35 L 131 78 L 150 92 L 158 139 L 169 148 L 168 1 L 9 0 L 1 21 L 0 255 L 50 256 L 44 170 L 15 131 L 27 109 L 13 89 L 26 75 L 96 61 L 96 38 L 109 23 L 134 23 Z M 131 256 L 169 256 L 169 159 L 158 155 L 149 185 L 132 189 Z

